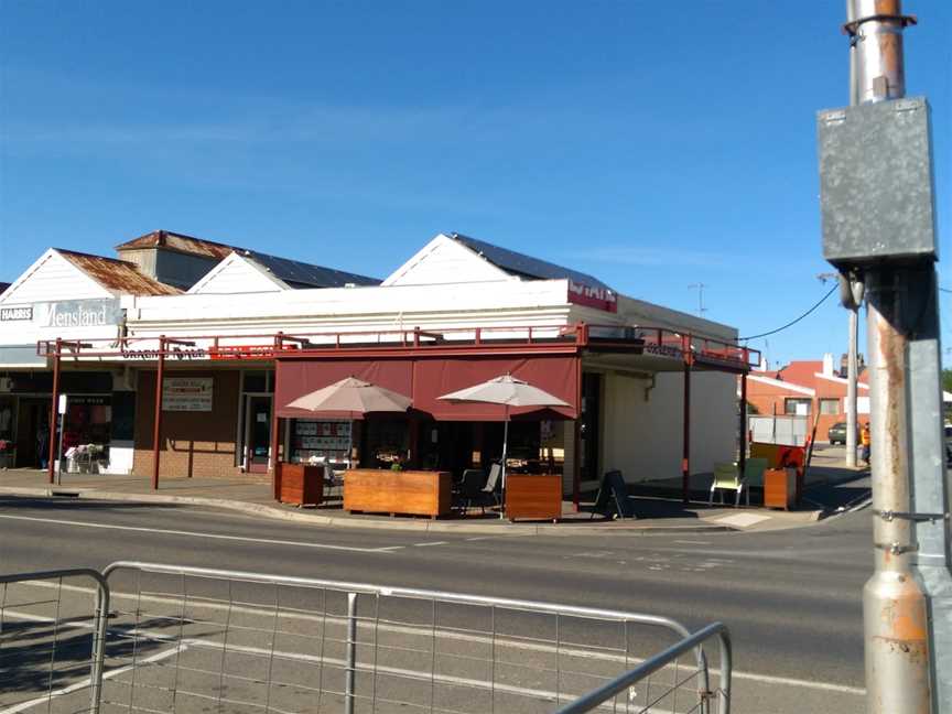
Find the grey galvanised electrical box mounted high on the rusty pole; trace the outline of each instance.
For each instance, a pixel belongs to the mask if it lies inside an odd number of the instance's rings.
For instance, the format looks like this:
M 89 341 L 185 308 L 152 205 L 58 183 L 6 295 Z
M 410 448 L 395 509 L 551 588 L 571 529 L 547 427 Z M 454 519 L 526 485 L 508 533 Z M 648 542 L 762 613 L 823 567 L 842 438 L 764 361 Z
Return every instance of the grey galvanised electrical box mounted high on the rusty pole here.
M 827 109 L 818 134 L 823 257 L 841 268 L 937 259 L 926 99 Z

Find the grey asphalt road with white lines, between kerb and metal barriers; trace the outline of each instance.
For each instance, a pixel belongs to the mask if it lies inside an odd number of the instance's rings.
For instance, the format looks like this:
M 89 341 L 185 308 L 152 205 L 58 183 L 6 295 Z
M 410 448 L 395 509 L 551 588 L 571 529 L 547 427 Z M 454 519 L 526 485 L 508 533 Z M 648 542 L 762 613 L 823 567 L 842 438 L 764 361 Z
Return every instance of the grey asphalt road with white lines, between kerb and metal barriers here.
M 868 510 L 764 533 L 593 537 L 580 531 L 566 528 L 564 536 L 556 537 L 421 536 L 315 528 L 171 506 L 2 498 L 0 572 L 104 567 L 117 560 L 139 560 L 642 612 L 672 617 L 692 630 L 722 620 L 731 628 L 735 650 L 732 711 L 864 711 L 861 591 L 873 562 Z M 141 587 L 153 594 L 154 603 L 162 603 L 154 593 L 166 585 Z M 258 602 L 256 597 L 248 593 L 239 599 Z M 127 606 L 128 613 L 141 612 Z M 328 606 L 334 609 L 333 621 L 323 624 L 322 632 L 333 641 L 343 637 L 342 608 L 340 603 Z M 246 608 L 248 617 L 257 616 L 252 609 Z M 424 623 L 413 607 L 404 609 L 385 619 Z M 143 627 L 131 620 L 122 626 Z M 412 645 L 416 635 L 401 627 L 393 625 L 388 636 Z M 497 659 L 536 627 L 542 625 L 528 615 L 515 618 L 510 639 L 500 640 Z M 567 624 L 562 627 L 563 638 L 584 639 L 580 632 L 566 635 Z M 292 632 L 296 630 L 292 628 L 289 636 Z M 198 632 L 180 635 L 190 641 L 201 639 Z M 221 636 L 210 630 L 202 635 L 206 641 Z M 670 640 L 645 639 L 630 649 L 635 657 L 643 657 L 667 643 Z M 430 647 L 435 659 L 437 649 L 442 656 L 450 652 L 448 646 L 461 647 L 466 652 L 458 654 L 464 656 L 483 645 L 475 638 L 465 645 L 454 640 Z M 249 642 L 249 651 L 252 646 Z M 404 669 L 412 669 L 412 660 L 425 649 L 404 647 L 397 657 L 393 652 L 400 647 L 394 640 L 390 656 L 396 657 L 394 667 Z M 199 657 L 201 648 L 195 651 Z M 591 653 L 577 654 L 580 662 L 591 660 Z M 332 659 L 338 661 L 340 656 L 335 651 Z M 370 650 L 360 657 L 371 657 Z M 524 647 L 518 657 L 510 657 L 512 685 L 545 690 L 544 682 L 536 681 L 538 672 L 548 668 L 545 657 L 542 649 L 527 652 Z M 576 672 L 583 668 L 564 659 L 558 666 Z M 398 691 L 399 683 L 393 688 L 394 699 L 407 696 Z M 583 680 L 569 689 L 573 688 L 584 689 Z M 295 691 L 285 688 L 283 694 L 293 700 Z M 298 694 L 299 700 L 306 696 L 304 690 Z M 461 701 L 458 692 L 444 694 Z M 0 693 L 0 706 L 9 703 Z M 682 711 L 680 706 L 673 708 Z M 504 703 L 496 711 L 517 708 Z M 518 711 L 528 708 L 519 705 Z

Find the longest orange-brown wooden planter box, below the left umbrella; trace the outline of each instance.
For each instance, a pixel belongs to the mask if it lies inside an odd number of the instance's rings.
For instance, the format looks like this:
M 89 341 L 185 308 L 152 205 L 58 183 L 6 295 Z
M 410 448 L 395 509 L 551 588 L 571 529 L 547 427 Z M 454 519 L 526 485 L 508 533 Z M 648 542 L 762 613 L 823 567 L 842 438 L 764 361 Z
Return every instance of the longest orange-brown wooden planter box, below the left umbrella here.
M 436 518 L 450 513 L 450 472 L 357 468 L 344 474 L 344 510 Z

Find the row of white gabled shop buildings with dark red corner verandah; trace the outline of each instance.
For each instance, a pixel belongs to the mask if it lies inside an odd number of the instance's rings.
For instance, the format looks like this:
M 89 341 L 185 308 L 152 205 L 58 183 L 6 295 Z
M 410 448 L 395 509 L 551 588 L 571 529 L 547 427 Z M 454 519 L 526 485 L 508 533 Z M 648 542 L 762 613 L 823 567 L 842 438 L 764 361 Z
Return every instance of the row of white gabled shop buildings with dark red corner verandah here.
M 572 269 L 458 234 L 382 281 L 166 231 L 118 250 L 122 284 L 51 249 L 0 295 L 0 414 L 11 414 L 0 439 L 17 443 L 19 466 L 39 465 L 30 443 L 50 410 L 57 338 L 62 389 L 78 400 L 64 435 L 100 440 L 99 467 L 118 473 L 144 475 L 159 456 L 163 477 L 267 477 L 275 458 L 345 458 L 351 442 L 369 467 L 485 467 L 504 412 L 437 397 L 506 372 L 569 404 L 513 413 L 510 431 L 510 456 L 561 469 L 565 495 L 608 469 L 675 478 L 736 453 L 736 375 L 756 364 L 737 331 Z M 412 397 L 412 413 L 351 432 L 288 408 L 348 375 Z M 87 429 L 94 416 L 108 428 Z

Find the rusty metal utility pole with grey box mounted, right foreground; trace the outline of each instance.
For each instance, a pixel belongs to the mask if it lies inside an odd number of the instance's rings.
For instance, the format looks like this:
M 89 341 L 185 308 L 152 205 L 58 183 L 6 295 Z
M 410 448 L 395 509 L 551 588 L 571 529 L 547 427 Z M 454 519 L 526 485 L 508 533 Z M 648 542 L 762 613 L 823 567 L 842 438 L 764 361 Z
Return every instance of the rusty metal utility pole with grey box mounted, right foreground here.
M 952 533 L 942 431 L 929 107 L 904 99 L 899 0 L 847 0 L 851 106 L 820 112 L 824 257 L 867 301 L 875 573 L 867 711 L 952 714 Z M 855 409 L 854 409 L 855 412 Z

